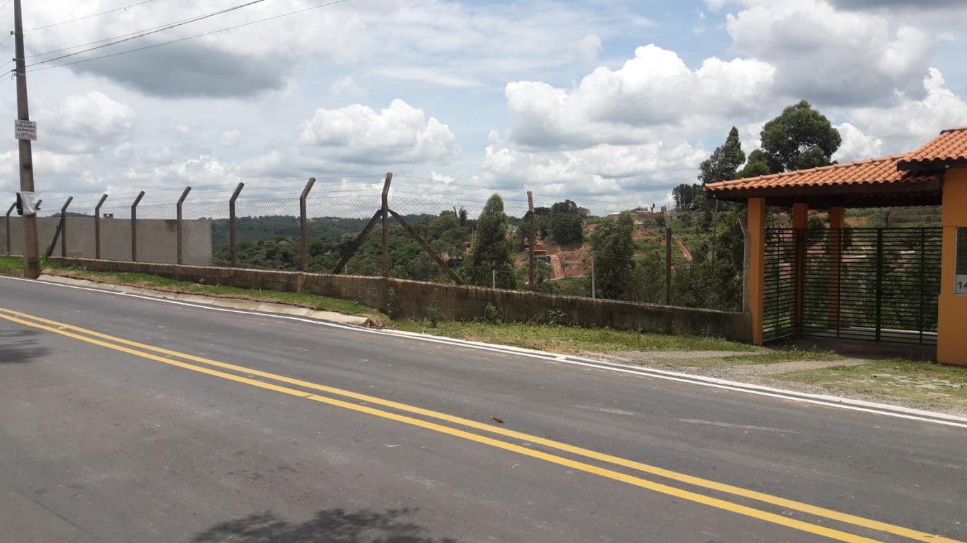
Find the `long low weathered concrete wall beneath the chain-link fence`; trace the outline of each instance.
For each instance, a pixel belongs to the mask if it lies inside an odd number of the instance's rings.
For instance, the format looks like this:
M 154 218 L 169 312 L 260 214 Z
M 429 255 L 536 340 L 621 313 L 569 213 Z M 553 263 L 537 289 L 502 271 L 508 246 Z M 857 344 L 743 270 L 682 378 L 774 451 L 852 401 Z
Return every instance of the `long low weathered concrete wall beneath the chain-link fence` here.
M 425 316 L 425 307 L 430 304 L 433 293 L 436 292 L 440 309 L 448 318 L 456 320 L 480 318 L 484 315 L 487 304 L 493 304 L 513 321 L 544 318 L 549 310 L 553 310 L 563 313 L 564 320 L 586 327 L 715 335 L 736 341 L 751 341 L 751 320 L 747 313 L 549 296 L 523 291 L 359 275 L 273 272 L 76 258 L 51 260 L 64 266 L 86 268 L 95 272 L 143 272 L 209 285 L 289 292 L 307 291 L 320 296 L 355 300 L 382 311 L 387 310 L 390 289 L 393 289 L 396 293 L 396 313 L 407 317 Z

